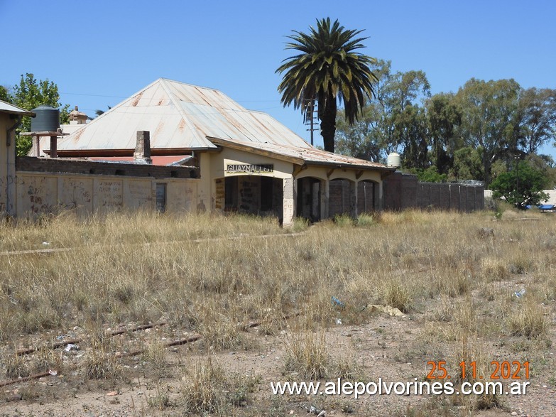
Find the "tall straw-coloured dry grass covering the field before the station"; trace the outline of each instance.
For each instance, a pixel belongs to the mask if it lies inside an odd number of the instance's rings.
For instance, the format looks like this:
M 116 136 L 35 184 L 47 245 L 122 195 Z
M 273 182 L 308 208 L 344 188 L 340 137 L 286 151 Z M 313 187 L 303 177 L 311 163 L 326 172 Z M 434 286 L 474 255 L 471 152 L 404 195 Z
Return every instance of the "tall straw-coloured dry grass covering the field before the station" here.
M 374 316 L 366 306 L 373 304 L 412 315 L 423 345 L 440 345 L 457 363 L 477 357 L 479 340 L 542 345 L 550 339 L 547 317 L 556 298 L 556 223 L 551 215 L 521 217 L 408 210 L 359 224 L 298 222 L 303 234 L 266 238 L 256 236 L 284 230 L 276 220 L 246 216 L 138 213 L 3 222 L 1 251 L 74 249 L 0 256 L 1 371 L 6 377 L 30 372 L 13 355 L 13 342 L 48 330 L 166 320 L 182 332 L 199 332 L 204 347 L 236 350 L 249 348 L 243 329 L 251 320 L 262 321 L 262 337 L 278 334 L 284 315 L 301 313 L 304 320 L 286 343 L 288 366 L 305 378 L 322 378 L 334 374 L 331 358 L 337 357 L 323 343 L 325 328 L 336 320 L 369 323 Z M 494 234 L 481 237 L 482 228 Z M 512 296 L 521 288 L 525 297 Z M 331 305 L 332 296 L 345 307 Z M 163 364 L 163 351 L 152 345 L 148 362 Z M 107 359 L 113 352 L 107 342 L 92 342 L 87 376 L 117 377 L 116 362 Z M 44 356 L 34 369 L 53 360 Z M 350 374 L 344 365 L 342 373 Z M 201 380 L 223 377 L 214 367 L 197 368 Z M 191 410 L 222 408 L 207 390 L 200 384 L 186 389 Z

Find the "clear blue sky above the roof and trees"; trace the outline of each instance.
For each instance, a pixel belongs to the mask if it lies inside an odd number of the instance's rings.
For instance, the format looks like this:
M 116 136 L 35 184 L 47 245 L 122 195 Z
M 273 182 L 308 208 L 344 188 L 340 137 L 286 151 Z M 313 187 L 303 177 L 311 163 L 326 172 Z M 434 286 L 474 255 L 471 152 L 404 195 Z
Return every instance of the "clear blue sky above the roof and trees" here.
M 471 77 L 556 88 L 550 0 L 0 0 L 0 85 L 32 72 L 93 115 L 166 77 L 221 90 L 308 139 L 300 112 L 280 104 L 275 70 L 290 56 L 285 36 L 327 16 L 365 29 L 367 55 L 425 71 L 433 93 Z

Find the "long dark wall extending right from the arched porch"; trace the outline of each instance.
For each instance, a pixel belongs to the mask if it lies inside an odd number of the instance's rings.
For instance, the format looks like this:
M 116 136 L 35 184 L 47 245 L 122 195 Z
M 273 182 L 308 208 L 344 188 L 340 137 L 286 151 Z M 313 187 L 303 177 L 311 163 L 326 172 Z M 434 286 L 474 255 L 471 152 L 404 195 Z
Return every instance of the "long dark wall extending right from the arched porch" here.
M 437 208 L 472 212 L 484 209 L 484 187 L 452 183 L 420 183 L 415 175 L 393 173 L 384 180 L 387 210 Z

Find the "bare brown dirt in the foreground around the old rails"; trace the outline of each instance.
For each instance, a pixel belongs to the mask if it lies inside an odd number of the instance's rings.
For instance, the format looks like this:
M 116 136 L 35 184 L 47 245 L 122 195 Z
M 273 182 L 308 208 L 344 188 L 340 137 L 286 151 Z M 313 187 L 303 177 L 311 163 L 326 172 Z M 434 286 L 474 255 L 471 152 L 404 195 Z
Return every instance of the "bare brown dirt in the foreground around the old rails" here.
M 516 286 L 517 288 L 517 286 Z M 330 350 L 337 355 L 356 358 L 364 381 L 424 380 L 430 371 L 427 362 L 445 357 L 449 347 L 423 343 L 421 320 L 423 313 L 391 317 L 376 313 L 364 325 L 336 325 L 326 332 Z M 295 319 L 293 319 L 295 320 Z M 287 321 L 287 320 L 285 320 Z M 452 398 L 435 396 L 362 395 L 349 396 L 273 396 L 271 382 L 296 380 L 284 368 L 285 342 L 288 341 L 288 323 L 278 335 L 258 335 L 257 327 L 246 332 L 249 350 L 229 350 L 214 353 L 202 341 L 168 349 L 165 365 L 154 368 L 141 355 L 120 359 L 124 372 L 110 380 L 85 379 L 79 367 L 60 372 L 56 376 L 4 386 L 0 403 L 1 416 L 179 416 L 180 391 L 188 369 L 210 357 L 214 363 L 229 372 L 258 377 L 251 399 L 244 406 L 234 408 L 236 416 L 305 416 L 311 406 L 325 410 L 327 416 L 419 416 L 455 415 L 474 416 L 555 416 L 556 389 L 553 381 L 555 350 L 543 352 L 543 357 L 530 359 L 544 362 L 543 372 L 530 379 L 525 396 L 503 396 L 499 407 L 485 411 L 467 411 L 464 404 L 450 406 L 442 411 L 442 402 L 450 404 Z M 140 346 L 151 340 L 179 340 L 190 333 L 167 326 L 126 333 L 114 337 L 116 345 Z M 50 335 L 44 335 L 46 338 Z M 64 337 L 79 337 L 80 329 L 71 330 Z M 553 335 L 551 335 L 553 337 Z M 63 340 L 58 337 L 58 340 Z M 506 340 L 506 344 L 509 340 Z M 520 359 L 516 352 L 503 347 L 500 340 L 487 347 L 485 354 L 493 360 Z M 79 346 L 78 346 L 79 347 Z M 60 350 L 67 364 L 79 364 L 84 352 Z M 116 353 L 117 354 L 117 353 Z M 545 356 L 546 355 L 546 356 Z M 534 356 L 534 355 L 533 355 Z M 457 364 L 449 369 L 458 372 Z M 155 399 L 168 396 L 168 404 L 157 406 Z M 439 404 L 440 403 L 440 404 Z M 453 404 L 452 404 L 453 405 Z M 440 408 L 439 408 L 440 407 Z M 162 408 L 162 409 L 160 409 Z M 427 411 L 430 410 L 430 411 Z M 207 415 L 210 415 L 207 413 Z

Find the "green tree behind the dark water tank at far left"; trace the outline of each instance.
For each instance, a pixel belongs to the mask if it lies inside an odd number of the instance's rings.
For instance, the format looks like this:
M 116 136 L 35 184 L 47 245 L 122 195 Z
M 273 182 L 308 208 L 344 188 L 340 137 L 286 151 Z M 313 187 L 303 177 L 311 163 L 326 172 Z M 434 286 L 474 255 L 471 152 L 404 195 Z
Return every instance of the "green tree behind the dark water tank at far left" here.
M 60 108 L 60 94 L 58 93 L 58 85 L 54 82 L 46 80 L 37 81 L 35 76 L 30 73 L 21 75 L 19 84 L 13 87 L 11 94 L 11 102 L 22 109 L 32 110 L 41 104 L 51 107 Z M 67 123 L 69 104 L 60 109 L 60 123 Z M 18 155 L 27 155 L 31 149 L 31 136 L 19 135 L 22 131 L 31 131 L 31 117 L 23 117 L 21 126 L 16 132 L 16 152 Z

